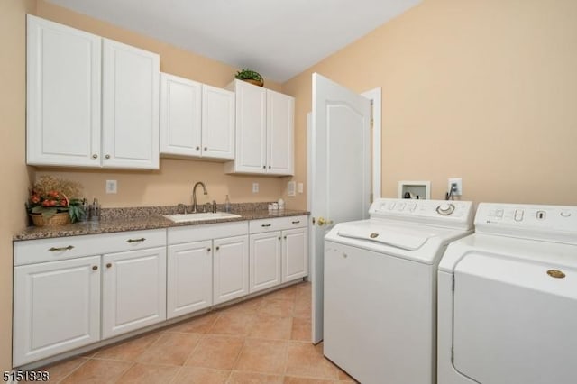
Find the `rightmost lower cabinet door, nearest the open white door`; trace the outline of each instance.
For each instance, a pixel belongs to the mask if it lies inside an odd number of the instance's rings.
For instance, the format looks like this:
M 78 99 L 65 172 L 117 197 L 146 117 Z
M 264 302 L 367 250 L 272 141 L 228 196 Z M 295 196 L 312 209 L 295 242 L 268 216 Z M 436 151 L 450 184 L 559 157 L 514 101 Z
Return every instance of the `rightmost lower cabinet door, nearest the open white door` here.
M 308 275 L 308 229 L 282 232 L 282 282 Z

